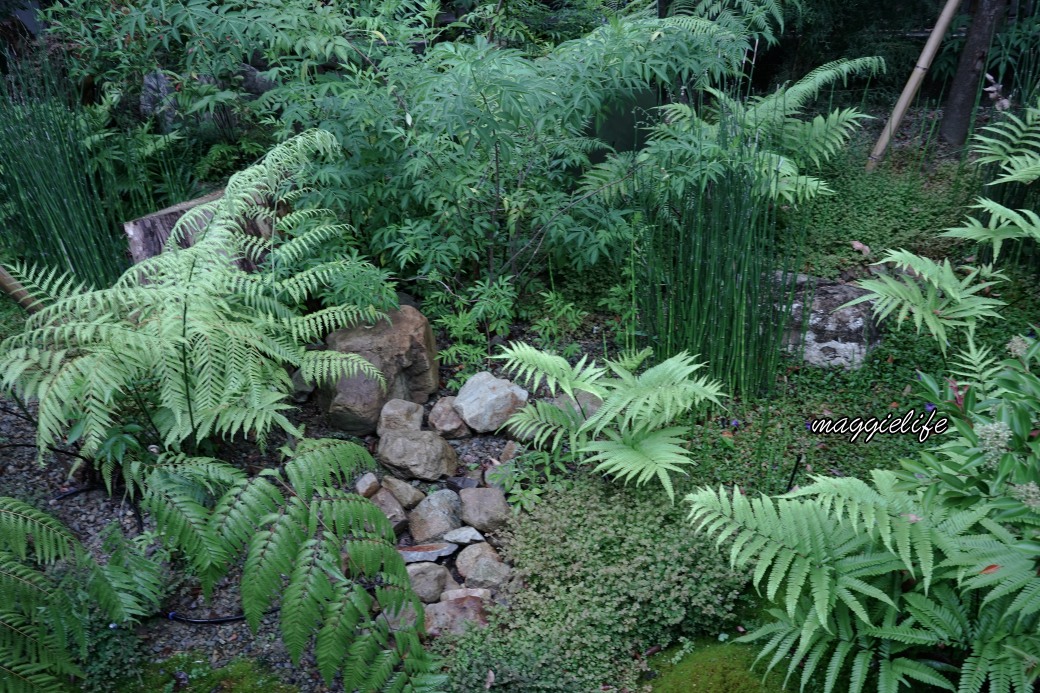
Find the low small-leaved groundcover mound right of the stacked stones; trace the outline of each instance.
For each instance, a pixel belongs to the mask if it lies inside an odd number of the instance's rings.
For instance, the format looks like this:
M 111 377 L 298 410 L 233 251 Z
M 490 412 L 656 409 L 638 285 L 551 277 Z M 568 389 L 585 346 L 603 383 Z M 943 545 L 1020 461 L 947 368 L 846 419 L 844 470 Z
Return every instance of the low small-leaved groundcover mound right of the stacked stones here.
M 483 690 L 489 670 L 493 690 L 631 688 L 634 654 L 718 633 L 733 620 L 745 576 L 683 517 L 660 489 L 592 477 L 546 494 L 508 536 L 522 582 L 509 611 L 452 643 L 452 690 Z

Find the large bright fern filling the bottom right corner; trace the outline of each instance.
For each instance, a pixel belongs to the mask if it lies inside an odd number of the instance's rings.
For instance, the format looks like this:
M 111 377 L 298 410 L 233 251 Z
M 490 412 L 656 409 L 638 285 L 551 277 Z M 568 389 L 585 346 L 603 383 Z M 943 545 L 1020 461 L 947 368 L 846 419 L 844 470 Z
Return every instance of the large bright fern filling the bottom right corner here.
M 764 641 L 768 668 L 788 659 L 804 689 L 879 693 L 928 684 L 951 691 L 1032 691 L 1040 658 L 1040 578 L 1023 537 L 988 519 L 899 490 L 813 478 L 778 499 L 702 489 L 690 496 L 699 531 L 729 540 L 730 561 L 781 609 L 742 638 Z M 822 668 L 823 667 L 823 668 Z M 848 688 L 837 689 L 848 676 Z

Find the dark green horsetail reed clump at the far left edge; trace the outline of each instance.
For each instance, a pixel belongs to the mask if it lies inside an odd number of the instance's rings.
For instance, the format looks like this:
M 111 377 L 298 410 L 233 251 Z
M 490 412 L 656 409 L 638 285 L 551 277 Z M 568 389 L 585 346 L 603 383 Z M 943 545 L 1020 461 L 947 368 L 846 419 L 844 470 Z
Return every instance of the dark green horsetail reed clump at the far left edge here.
M 98 286 L 128 265 L 102 204 L 73 101 L 47 67 L 0 81 L 0 250 Z

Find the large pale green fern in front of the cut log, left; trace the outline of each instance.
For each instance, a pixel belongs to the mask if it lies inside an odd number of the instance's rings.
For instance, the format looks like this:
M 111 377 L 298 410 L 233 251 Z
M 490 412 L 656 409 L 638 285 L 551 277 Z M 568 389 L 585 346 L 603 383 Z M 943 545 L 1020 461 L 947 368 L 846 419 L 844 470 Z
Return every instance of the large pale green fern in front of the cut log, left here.
M 185 214 L 167 250 L 111 288 L 90 290 L 54 273 L 20 270 L 45 307 L 3 343 L 0 371 L 4 386 L 40 403 L 41 456 L 67 434 L 94 456 L 128 417 L 144 425 L 151 442 L 175 450 L 213 435 L 253 435 L 262 443 L 271 427 L 295 432 L 285 417 L 286 365 L 311 382 L 359 371 L 381 378 L 356 355 L 306 349 L 331 330 L 380 318 L 371 302 L 306 315 L 297 310 L 361 260 L 289 275 L 251 274 L 234 261 L 288 266 L 341 232 L 316 224 L 283 245 L 241 230 L 243 219 L 271 216 L 296 170 L 333 151 L 333 137 L 320 131 L 275 148 L 232 177 L 220 200 Z M 300 222 L 303 214 L 288 219 Z M 182 236 L 193 245 L 181 249 Z

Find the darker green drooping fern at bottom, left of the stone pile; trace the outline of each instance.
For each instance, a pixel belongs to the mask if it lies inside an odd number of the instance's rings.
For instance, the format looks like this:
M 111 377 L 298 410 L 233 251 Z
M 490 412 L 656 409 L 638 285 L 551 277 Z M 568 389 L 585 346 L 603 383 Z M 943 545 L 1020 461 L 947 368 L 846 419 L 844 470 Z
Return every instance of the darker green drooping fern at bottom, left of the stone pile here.
M 340 490 L 372 466 L 371 457 L 355 443 L 331 439 L 303 439 L 283 453 L 283 468 L 249 479 L 213 460 L 182 459 L 180 480 L 150 478 L 142 505 L 173 547 L 211 557 L 200 571 L 207 593 L 237 558 L 244 560 L 246 621 L 255 631 L 278 604 L 293 662 L 313 642 L 322 676 L 331 681 L 342 670 L 349 690 L 436 687 L 436 662 L 415 636 L 421 618 L 391 636 L 385 617 L 422 614 L 393 529 L 367 498 Z M 180 498 L 191 494 L 184 481 L 194 484 L 199 497 L 226 490 L 187 504 L 186 513 Z M 179 531 L 187 514 L 190 531 Z

